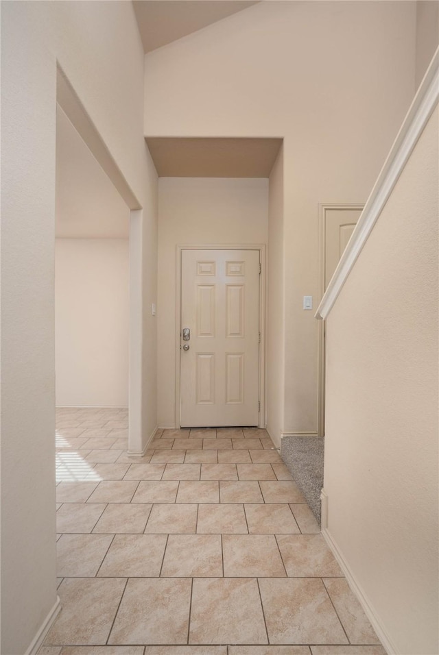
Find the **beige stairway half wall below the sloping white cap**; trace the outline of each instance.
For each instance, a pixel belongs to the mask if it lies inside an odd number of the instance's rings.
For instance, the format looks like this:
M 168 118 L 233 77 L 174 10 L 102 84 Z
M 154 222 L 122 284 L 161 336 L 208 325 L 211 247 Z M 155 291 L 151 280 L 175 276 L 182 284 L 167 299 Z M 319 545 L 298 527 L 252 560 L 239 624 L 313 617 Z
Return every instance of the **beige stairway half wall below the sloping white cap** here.
M 390 652 L 438 653 L 438 111 L 327 320 L 329 534 Z

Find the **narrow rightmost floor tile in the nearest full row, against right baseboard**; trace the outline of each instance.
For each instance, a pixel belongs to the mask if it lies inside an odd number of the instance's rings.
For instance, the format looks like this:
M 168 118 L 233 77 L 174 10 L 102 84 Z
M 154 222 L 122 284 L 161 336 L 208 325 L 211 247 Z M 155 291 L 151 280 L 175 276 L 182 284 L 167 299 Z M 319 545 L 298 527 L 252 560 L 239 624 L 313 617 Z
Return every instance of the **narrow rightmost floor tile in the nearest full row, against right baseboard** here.
M 370 625 L 357 597 L 344 578 L 327 578 L 324 586 L 331 597 L 348 639 L 355 644 L 379 644 L 375 630 Z

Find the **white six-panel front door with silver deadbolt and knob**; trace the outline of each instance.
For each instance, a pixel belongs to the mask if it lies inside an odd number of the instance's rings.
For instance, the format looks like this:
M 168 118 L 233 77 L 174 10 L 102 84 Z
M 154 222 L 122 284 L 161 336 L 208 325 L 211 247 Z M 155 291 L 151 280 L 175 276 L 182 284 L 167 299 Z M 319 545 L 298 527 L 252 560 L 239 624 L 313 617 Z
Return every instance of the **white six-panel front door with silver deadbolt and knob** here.
M 183 250 L 181 279 L 180 425 L 258 425 L 259 251 Z

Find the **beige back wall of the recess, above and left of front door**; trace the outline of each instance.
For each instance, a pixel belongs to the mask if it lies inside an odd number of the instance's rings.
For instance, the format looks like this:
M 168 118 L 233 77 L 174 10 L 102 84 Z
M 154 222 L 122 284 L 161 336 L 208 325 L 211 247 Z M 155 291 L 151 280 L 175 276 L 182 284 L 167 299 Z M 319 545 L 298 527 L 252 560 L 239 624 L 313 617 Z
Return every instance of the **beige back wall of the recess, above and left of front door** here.
M 175 424 L 176 246 L 267 243 L 268 180 L 158 181 L 158 425 Z

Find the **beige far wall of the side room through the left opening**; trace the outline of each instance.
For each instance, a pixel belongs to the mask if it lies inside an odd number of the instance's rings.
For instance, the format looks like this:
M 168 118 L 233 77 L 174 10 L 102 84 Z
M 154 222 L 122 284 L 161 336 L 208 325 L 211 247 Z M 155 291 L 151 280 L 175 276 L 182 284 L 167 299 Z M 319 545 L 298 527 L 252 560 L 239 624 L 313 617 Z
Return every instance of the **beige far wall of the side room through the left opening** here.
M 128 406 L 128 240 L 57 239 L 58 406 Z

